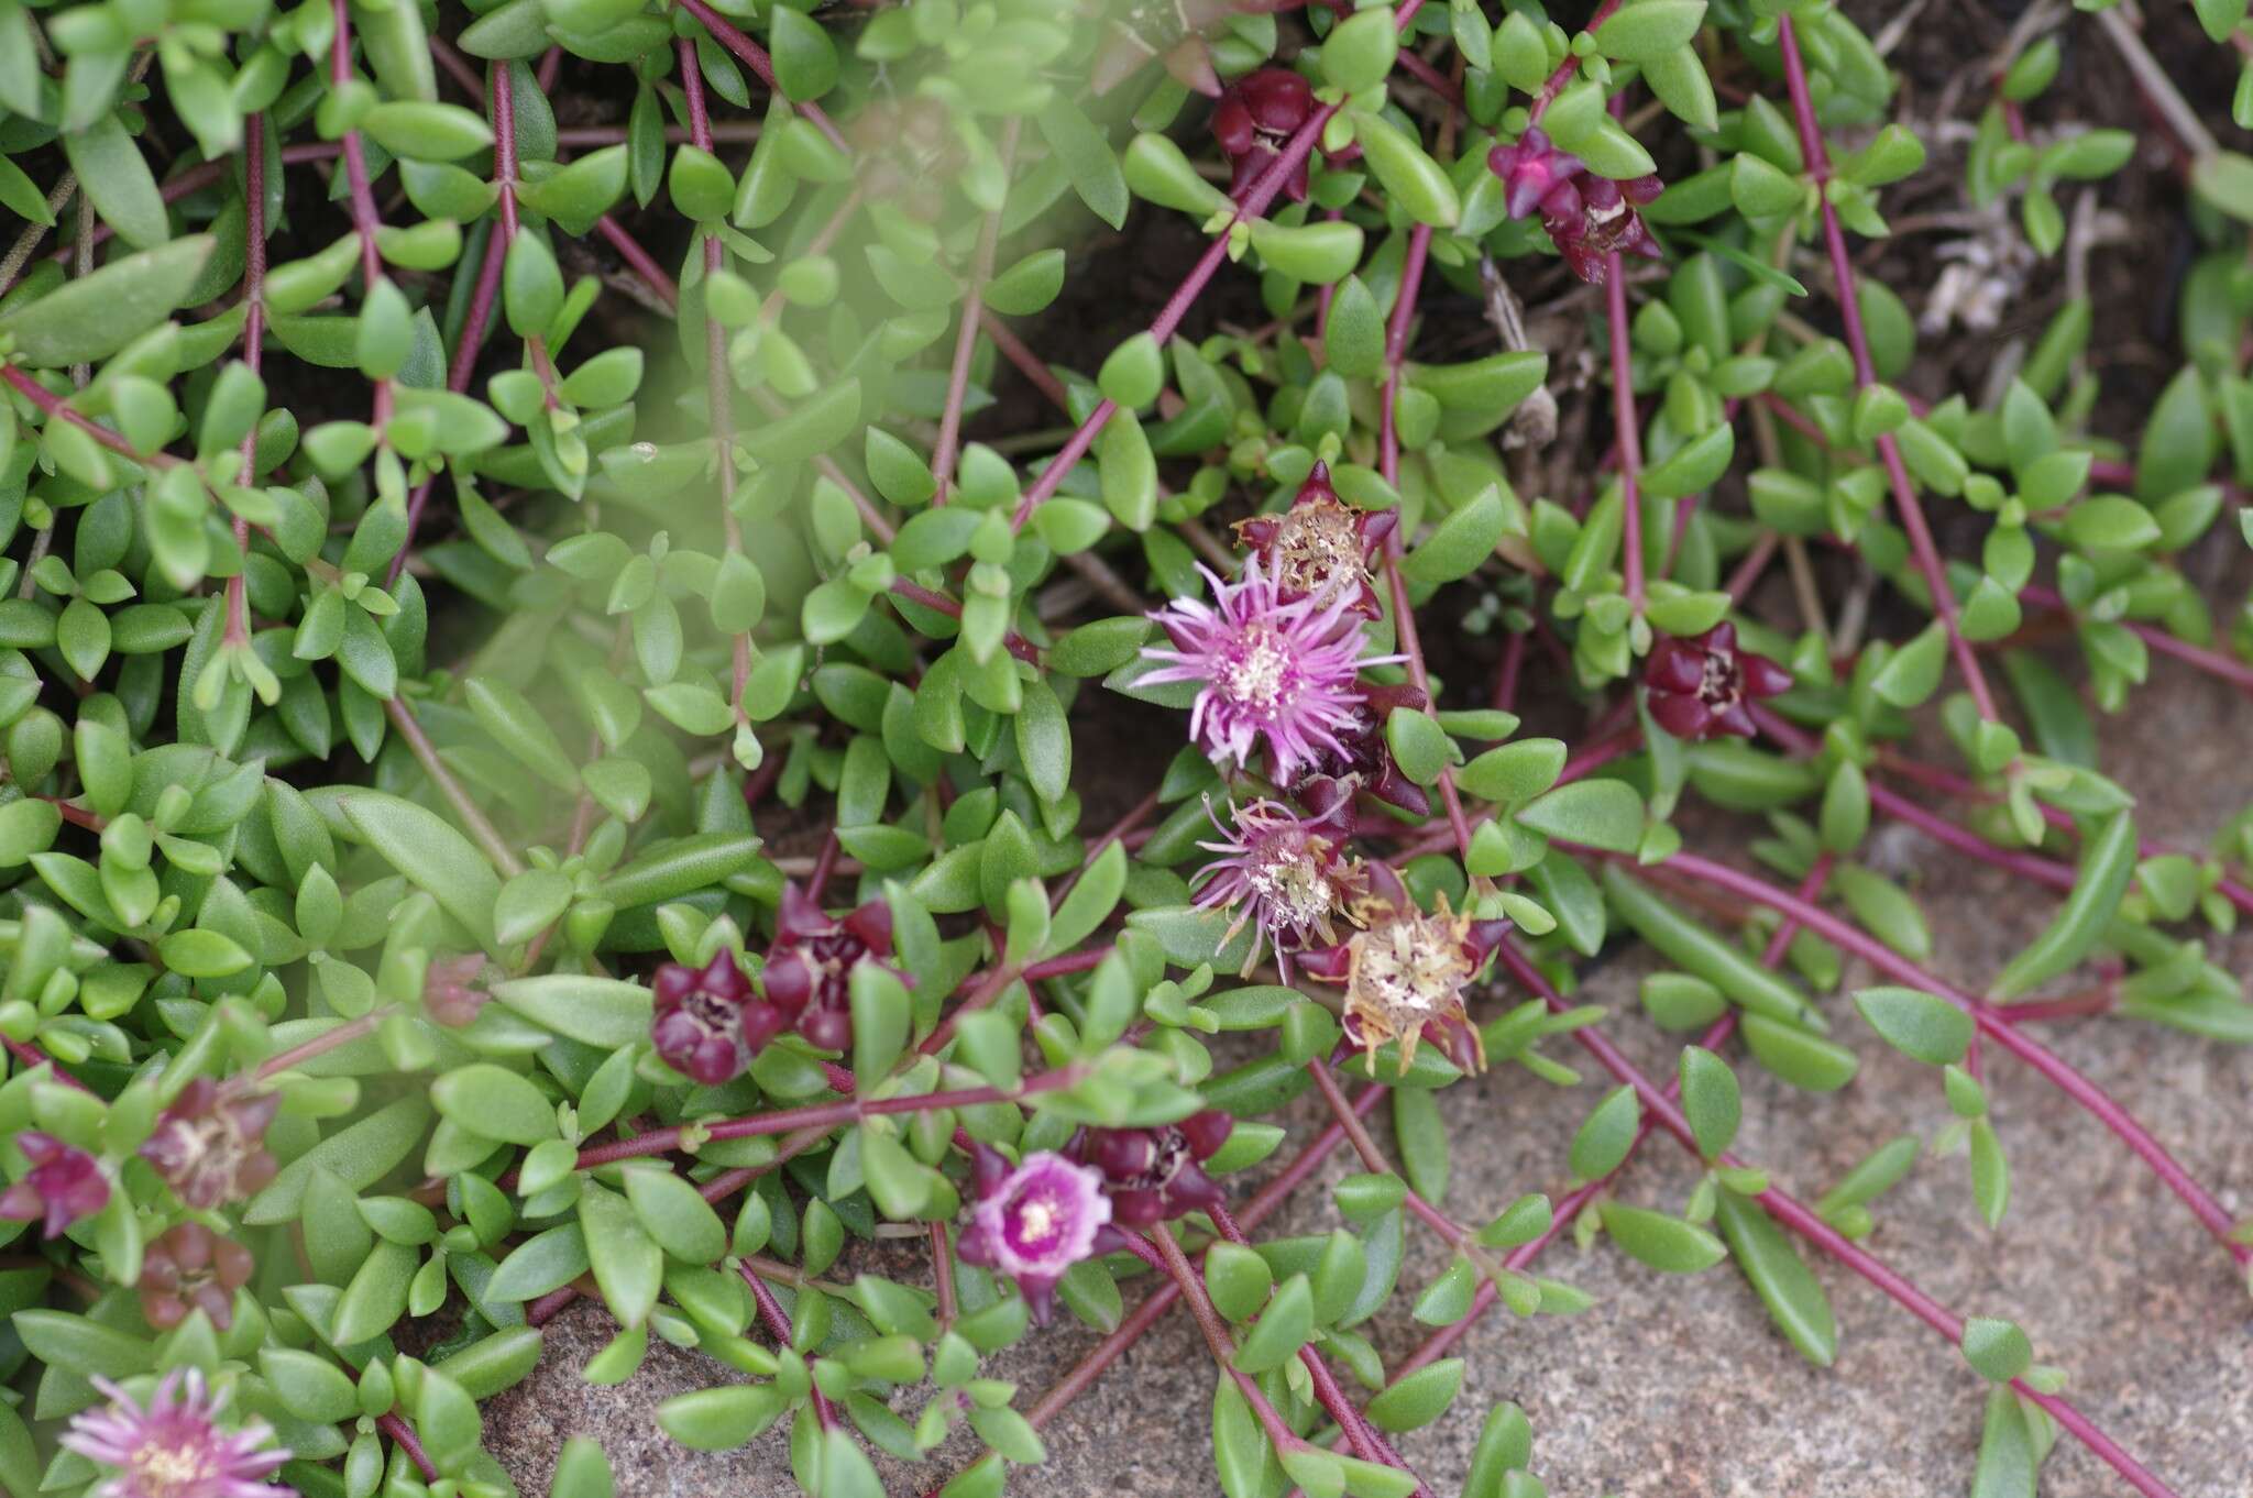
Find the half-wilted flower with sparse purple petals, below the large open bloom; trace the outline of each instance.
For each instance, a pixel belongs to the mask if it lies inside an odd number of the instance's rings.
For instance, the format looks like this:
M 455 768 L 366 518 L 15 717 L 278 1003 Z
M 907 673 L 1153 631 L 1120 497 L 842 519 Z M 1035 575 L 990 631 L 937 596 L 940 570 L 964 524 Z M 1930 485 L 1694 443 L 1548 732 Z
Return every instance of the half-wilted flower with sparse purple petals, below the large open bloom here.
M 1235 939 L 1246 924 L 1257 933 L 1244 957 L 1244 973 L 1253 971 L 1262 944 L 1268 944 L 1282 980 L 1291 982 L 1293 951 L 1316 937 L 1338 939 L 1334 917 L 1363 890 L 1361 865 L 1345 856 L 1343 822 L 1350 815 L 1350 800 L 1336 800 L 1323 818 L 1302 818 L 1282 802 L 1259 800 L 1235 809 L 1232 838 L 1199 842 L 1219 858 L 1196 876 L 1196 906 L 1237 912 L 1221 944 Z

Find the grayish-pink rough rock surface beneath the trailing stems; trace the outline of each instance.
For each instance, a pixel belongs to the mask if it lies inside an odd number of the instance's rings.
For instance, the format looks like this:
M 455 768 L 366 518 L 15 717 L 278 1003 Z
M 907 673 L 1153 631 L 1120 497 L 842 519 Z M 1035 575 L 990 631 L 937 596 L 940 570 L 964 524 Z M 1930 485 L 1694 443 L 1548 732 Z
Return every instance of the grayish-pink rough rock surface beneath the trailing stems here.
M 2147 836 L 2197 840 L 2253 797 L 2253 703 L 2181 669 L 2156 683 L 2131 716 L 2104 725 L 2104 764 L 2143 797 Z M 2149 768 L 2138 768 L 2147 757 Z M 2163 766 L 2163 768 L 2161 768 Z M 1942 854 L 1913 833 L 1881 833 L 1884 856 L 1906 870 L 1935 935 L 1935 966 L 1967 984 L 1987 980 L 2048 919 L 1992 870 Z M 1582 998 L 1613 1009 L 1606 1023 L 1656 1077 L 1678 1041 L 1636 1005 L 1647 962 L 1615 946 Z M 2217 946 L 2235 973 L 2253 971 L 2253 937 Z M 1609 953 L 1606 953 L 1609 957 Z M 1850 971 L 1847 987 L 1868 982 Z M 1832 1011 L 1845 1009 L 1843 998 Z M 1863 1054 L 1861 1077 L 1832 1097 L 1793 1093 L 1737 1056 L 1746 1093 L 1739 1153 L 1773 1167 L 1802 1198 L 1820 1194 L 1874 1144 L 1938 1133 L 1949 1111 L 1938 1077 L 1913 1065 L 1847 1014 L 1841 1036 Z M 2253 1212 L 2253 1050 L 2122 1020 L 2059 1020 L 2039 1032 L 2073 1065 L 2131 1111 L 2212 1185 L 2235 1214 Z M 1555 1088 L 1507 1068 L 1449 1088 L 1453 1131 L 1446 1207 L 1482 1219 L 1519 1192 L 1561 1194 L 1566 1144 L 1609 1079 L 1570 1041 L 1548 1052 L 1579 1068 L 1577 1088 Z M 2071 1374 L 2068 1397 L 2183 1498 L 2242 1498 L 2253 1489 L 2253 1298 L 2230 1261 L 2149 1171 L 2068 1099 L 2007 1056 L 1989 1056 L 1994 1120 L 2012 1165 L 2010 1214 L 1998 1232 L 1978 1221 L 1962 1158 L 1929 1158 L 1879 1207 L 1870 1248 L 1965 1316 L 2010 1316 L 2037 1356 Z M 1318 1124 L 1304 1104 L 1293 1142 Z M 1390 1144 L 1379 1113 L 1379 1140 Z M 1347 1174 L 1332 1158 L 1323 1180 Z M 1678 1210 L 1694 1171 L 1667 1138 L 1654 1138 L 1622 1180 L 1622 1196 Z M 1271 1234 L 1329 1230 L 1341 1219 L 1316 1189 L 1266 1225 Z M 912 1255 L 892 1259 L 915 1279 Z M 1388 1358 L 1415 1340 L 1413 1291 L 1444 1266 L 1428 1234 L 1410 1228 L 1404 1293 L 1379 1318 Z M 1809 1367 L 1766 1322 L 1728 1268 L 1656 1275 L 1604 1241 L 1579 1252 L 1564 1241 L 1541 1270 L 1570 1279 L 1597 1304 L 1577 1318 L 1532 1322 L 1494 1313 L 1460 1345 L 1469 1379 L 1455 1408 L 1401 1451 L 1435 1493 L 1458 1491 L 1478 1424 L 1496 1399 L 1525 1406 L 1537 1430 L 1537 1471 L 1552 1493 L 1597 1498 L 1929 1498 L 1969 1487 L 1985 1385 L 1953 1347 L 1834 1264 L 1816 1273 L 1832 1293 L 1841 1354 Z M 1140 1295 L 1126 1286 L 1129 1304 Z M 653 1349 L 638 1379 L 588 1388 L 577 1367 L 608 1338 L 599 1309 L 581 1307 L 550 1331 L 541 1370 L 487 1410 L 487 1439 L 527 1493 L 545 1491 L 566 1435 L 597 1435 L 611 1451 L 622 1498 L 793 1493 L 786 1442 L 685 1453 L 651 1419 L 656 1403 L 725 1376 L 698 1354 Z M 1000 1358 L 1021 1381 L 1021 1403 L 1054 1383 L 1095 1336 L 1077 1325 L 1032 1336 Z M 1217 1493 L 1210 1466 L 1212 1365 L 1194 1327 L 1172 1316 L 1045 1430 L 1050 1462 L 1014 1489 L 1045 1498 L 1133 1491 L 1140 1498 Z M 912 1410 L 910 1410 L 912 1415 Z M 924 1491 L 969 1451 L 921 1469 L 885 1469 L 894 1493 Z M 2071 1437 L 2043 1471 L 2046 1498 L 2129 1491 Z

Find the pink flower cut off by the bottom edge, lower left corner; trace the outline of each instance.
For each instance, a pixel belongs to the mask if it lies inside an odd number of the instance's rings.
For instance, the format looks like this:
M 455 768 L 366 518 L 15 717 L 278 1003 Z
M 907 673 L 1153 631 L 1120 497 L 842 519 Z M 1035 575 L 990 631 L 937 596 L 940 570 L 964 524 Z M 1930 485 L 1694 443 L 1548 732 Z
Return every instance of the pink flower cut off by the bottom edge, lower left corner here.
M 205 1397 L 201 1372 L 164 1374 L 146 1410 L 108 1379 L 95 1388 L 110 1403 L 74 1415 L 63 1435 L 70 1451 L 117 1469 L 90 1498 L 286 1498 L 266 1478 L 288 1451 L 268 1444 L 275 1433 L 264 1421 L 221 1428 L 228 1401 Z

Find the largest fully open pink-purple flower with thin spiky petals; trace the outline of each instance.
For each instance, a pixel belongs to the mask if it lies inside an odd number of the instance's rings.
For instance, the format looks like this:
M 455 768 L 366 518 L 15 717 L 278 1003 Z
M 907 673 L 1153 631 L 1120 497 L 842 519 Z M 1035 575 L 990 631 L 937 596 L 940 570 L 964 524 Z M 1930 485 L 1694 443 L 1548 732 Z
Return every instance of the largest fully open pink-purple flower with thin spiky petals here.
M 1284 601 L 1257 556 L 1232 583 L 1199 572 L 1214 601 L 1174 599 L 1151 615 L 1176 649 L 1145 649 L 1160 667 L 1142 680 L 1203 683 L 1190 737 L 1214 759 L 1244 764 L 1266 741 L 1273 777 L 1291 784 L 1325 752 L 1343 757 L 1341 734 L 1363 721 L 1361 667 L 1404 656 L 1361 658 L 1361 619 L 1345 590 Z

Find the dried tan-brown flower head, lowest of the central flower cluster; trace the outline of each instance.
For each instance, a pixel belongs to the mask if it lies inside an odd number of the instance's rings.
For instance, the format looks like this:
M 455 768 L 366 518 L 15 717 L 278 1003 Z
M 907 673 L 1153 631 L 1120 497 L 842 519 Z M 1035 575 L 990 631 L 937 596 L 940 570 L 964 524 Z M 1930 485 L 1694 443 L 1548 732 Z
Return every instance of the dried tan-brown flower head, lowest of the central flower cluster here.
M 1428 1036 L 1462 1070 L 1482 1068 L 1487 1050 L 1462 989 L 1494 955 L 1510 921 L 1455 915 L 1444 894 L 1440 908 L 1424 915 L 1388 865 L 1372 863 L 1370 874 L 1374 890 L 1354 910 L 1363 930 L 1300 957 L 1300 966 L 1323 982 L 1345 984 L 1345 1036 L 1365 1052 L 1399 1041 L 1406 1068 L 1417 1041 Z

